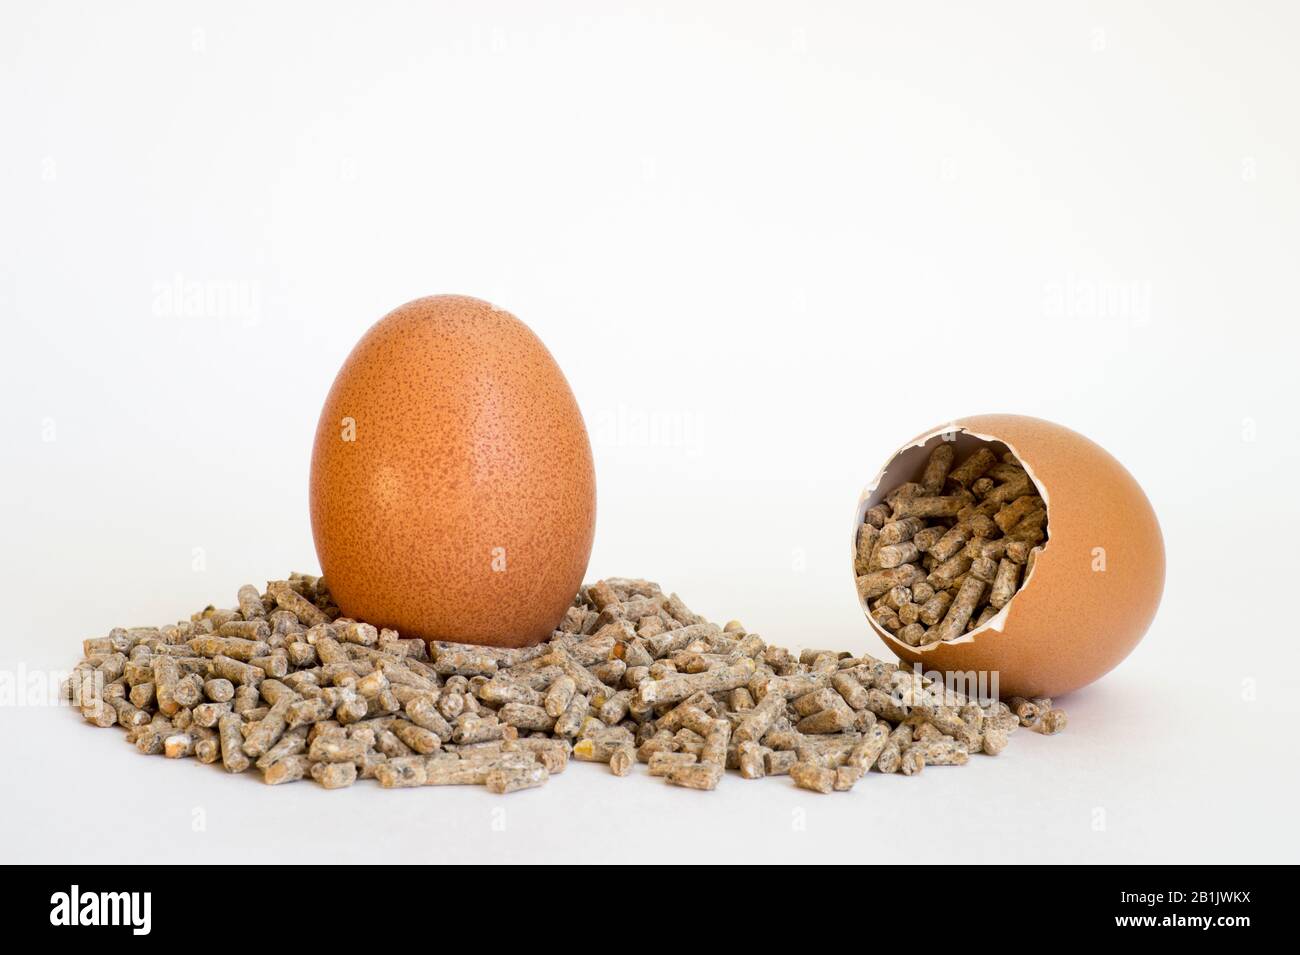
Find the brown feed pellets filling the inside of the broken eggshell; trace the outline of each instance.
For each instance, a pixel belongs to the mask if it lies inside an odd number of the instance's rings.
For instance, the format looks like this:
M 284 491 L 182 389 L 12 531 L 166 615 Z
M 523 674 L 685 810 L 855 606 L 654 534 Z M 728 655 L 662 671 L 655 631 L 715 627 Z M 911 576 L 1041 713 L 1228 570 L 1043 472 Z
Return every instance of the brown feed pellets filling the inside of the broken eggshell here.
M 941 440 L 919 482 L 867 508 L 854 569 L 871 617 L 911 647 L 952 641 L 1011 602 L 1046 539 L 1048 509 L 1015 455 L 953 466 Z

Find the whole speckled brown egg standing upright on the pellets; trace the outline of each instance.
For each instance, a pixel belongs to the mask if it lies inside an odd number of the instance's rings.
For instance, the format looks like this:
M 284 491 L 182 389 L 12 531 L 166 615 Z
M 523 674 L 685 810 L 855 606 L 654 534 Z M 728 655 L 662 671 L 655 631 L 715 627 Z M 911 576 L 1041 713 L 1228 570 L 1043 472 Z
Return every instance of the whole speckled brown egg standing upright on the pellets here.
M 325 399 L 311 513 L 344 615 L 430 641 L 550 637 L 595 531 L 592 446 L 564 374 L 486 301 L 402 305 Z

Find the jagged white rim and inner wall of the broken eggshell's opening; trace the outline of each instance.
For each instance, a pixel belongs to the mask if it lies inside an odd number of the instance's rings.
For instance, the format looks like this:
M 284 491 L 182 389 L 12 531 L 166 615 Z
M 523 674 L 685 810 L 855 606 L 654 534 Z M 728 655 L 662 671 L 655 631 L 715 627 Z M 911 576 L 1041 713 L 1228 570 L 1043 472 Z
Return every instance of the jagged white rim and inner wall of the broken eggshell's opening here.
M 867 511 L 875 507 L 876 504 L 881 503 L 889 495 L 889 492 L 893 491 L 893 489 L 898 487 L 898 485 L 907 483 L 909 481 L 919 481 L 922 472 L 926 470 L 926 461 L 930 459 L 930 452 L 935 450 L 935 444 L 937 444 L 939 442 L 952 443 L 953 450 L 957 452 L 958 461 L 965 460 L 970 453 L 982 447 L 989 448 L 994 455 L 998 456 L 998 459 L 1001 459 L 1002 455 L 1008 452 L 1015 455 L 1017 460 L 1020 463 L 1020 466 L 1024 468 L 1024 473 L 1030 476 L 1030 481 L 1034 483 L 1035 490 L 1039 492 L 1039 496 L 1043 498 L 1043 503 L 1046 507 L 1048 511 L 1048 518 L 1045 525 L 1046 539 L 1041 544 L 1039 544 L 1039 547 L 1041 547 L 1041 551 L 1035 559 L 1034 567 L 1024 576 L 1024 579 L 1020 581 L 1020 586 L 1017 589 L 1015 594 L 1011 595 L 1011 599 L 1006 602 L 1002 609 L 1000 609 L 997 613 L 994 613 L 992 617 L 984 621 L 983 625 L 972 628 L 950 641 L 942 641 L 942 642 L 936 641 L 933 643 L 923 643 L 915 647 L 904 643 L 892 633 L 889 633 L 884 626 L 881 626 L 875 617 L 871 616 L 871 608 L 867 605 L 867 602 L 863 600 L 862 596 L 859 595 L 858 604 L 862 607 L 862 612 L 866 616 L 867 622 L 871 625 L 871 629 L 875 630 L 880 635 L 880 638 L 889 644 L 890 648 L 907 647 L 907 650 L 910 650 L 914 654 L 924 654 L 926 651 L 933 650 L 935 647 L 942 644 L 952 647 L 961 643 L 972 643 L 982 633 L 987 633 L 991 630 L 1001 633 L 1002 630 L 1005 630 L 1009 615 L 1013 612 L 1015 607 L 1015 599 L 1023 591 L 1028 590 L 1030 585 L 1034 582 L 1034 574 L 1039 568 L 1039 561 L 1041 561 L 1046 556 L 1048 547 L 1052 543 L 1052 499 L 1048 495 L 1046 487 L 1044 487 L 1043 482 L 1039 481 L 1037 476 L 1035 476 L 1032 464 L 1024 460 L 1024 456 L 1019 451 L 1017 451 L 1013 444 L 1002 440 L 997 435 L 980 434 L 978 431 L 967 430 L 961 425 L 945 425 L 944 427 L 940 427 L 939 430 L 935 431 L 930 431 L 928 434 L 922 435 L 910 444 L 905 444 L 904 447 L 898 448 L 893 453 L 893 457 L 889 459 L 888 464 L 885 464 L 885 466 L 880 469 L 880 473 L 876 474 L 875 479 L 872 479 L 871 483 L 868 483 L 862 490 L 862 494 L 858 498 L 858 509 L 854 515 L 853 530 L 850 531 L 849 537 L 850 565 L 857 556 L 858 528 L 862 526 L 862 521 L 864 520 Z

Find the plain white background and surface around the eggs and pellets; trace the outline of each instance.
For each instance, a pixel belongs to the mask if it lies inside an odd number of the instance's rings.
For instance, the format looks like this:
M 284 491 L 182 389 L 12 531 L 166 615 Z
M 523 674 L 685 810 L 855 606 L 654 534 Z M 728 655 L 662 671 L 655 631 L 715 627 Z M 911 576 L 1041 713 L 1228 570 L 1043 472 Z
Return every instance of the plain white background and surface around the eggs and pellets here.
M 1297 26 L 1286 3 L 6 3 L 0 855 L 1296 861 Z M 1156 624 L 1063 735 L 833 798 L 590 765 L 508 799 L 270 790 L 14 699 L 83 637 L 313 570 L 329 383 L 433 292 L 515 312 L 568 376 L 592 578 L 883 654 L 848 565 L 861 486 L 1009 411 L 1147 489 Z

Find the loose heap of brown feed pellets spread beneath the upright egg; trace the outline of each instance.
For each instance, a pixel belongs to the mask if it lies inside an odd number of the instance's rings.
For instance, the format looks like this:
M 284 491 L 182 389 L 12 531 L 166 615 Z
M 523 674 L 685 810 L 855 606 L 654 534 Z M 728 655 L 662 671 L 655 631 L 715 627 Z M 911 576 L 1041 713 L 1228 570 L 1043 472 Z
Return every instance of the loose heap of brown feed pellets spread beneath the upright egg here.
M 1050 700 L 958 696 L 870 656 L 768 646 L 649 581 L 585 586 L 554 637 L 521 650 L 403 639 L 346 620 L 292 574 L 238 607 L 84 642 L 66 696 L 143 754 L 192 756 L 272 785 L 540 786 L 569 756 L 714 789 L 725 769 L 819 793 L 870 769 L 913 776 L 1052 734 Z

